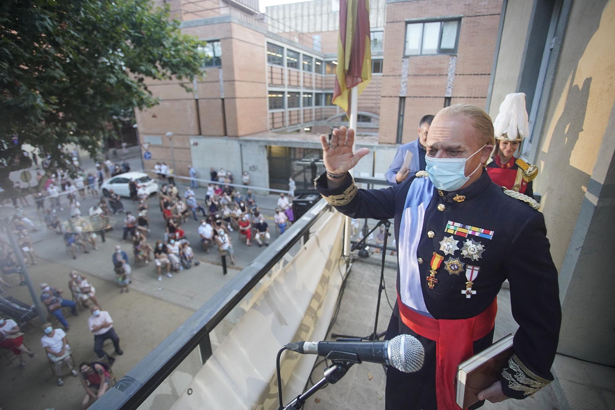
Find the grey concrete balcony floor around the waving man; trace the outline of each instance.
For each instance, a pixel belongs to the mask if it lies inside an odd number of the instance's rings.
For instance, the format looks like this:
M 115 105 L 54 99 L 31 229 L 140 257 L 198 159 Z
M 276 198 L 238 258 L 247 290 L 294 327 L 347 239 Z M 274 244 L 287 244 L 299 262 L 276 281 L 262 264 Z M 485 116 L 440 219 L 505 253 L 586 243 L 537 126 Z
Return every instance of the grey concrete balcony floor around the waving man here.
M 347 279 L 333 333 L 367 336 L 373 331 L 373 320 L 378 297 L 380 254 L 354 262 Z M 389 301 L 395 300 L 394 259 L 387 255 L 384 270 Z M 494 339 L 515 333 L 515 323 L 510 313 L 510 298 L 507 283 L 498 294 L 498 317 Z M 385 295 L 380 306 L 378 331 L 383 332 L 389 323 L 391 307 Z M 330 336 L 330 335 L 329 335 Z M 324 362 L 312 373 L 315 382 L 322 377 Z M 581 360 L 557 355 L 552 369 L 555 382 L 542 388 L 533 398 L 506 400 L 502 403 L 486 403 L 482 409 L 613 409 L 615 403 L 615 369 L 593 365 Z M 362 363 L 352 366 L 346 376 L 334 385 L 328 385 L 304 406 L 307 410 L 383 410 L 385 375 L 382 366 Z M 309 384 L 311 385 L 311 384 Z

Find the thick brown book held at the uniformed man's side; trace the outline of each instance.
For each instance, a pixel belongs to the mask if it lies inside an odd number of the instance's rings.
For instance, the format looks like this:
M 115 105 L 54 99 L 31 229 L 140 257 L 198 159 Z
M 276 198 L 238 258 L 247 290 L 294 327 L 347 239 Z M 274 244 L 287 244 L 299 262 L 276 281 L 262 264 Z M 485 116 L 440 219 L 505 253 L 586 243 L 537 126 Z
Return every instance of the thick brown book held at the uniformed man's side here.
M 513 335 L 502 337 L 457 367 L 457 404 L 466 409 L 478 401 L 478 393 L 499 380 L 512 356 Z

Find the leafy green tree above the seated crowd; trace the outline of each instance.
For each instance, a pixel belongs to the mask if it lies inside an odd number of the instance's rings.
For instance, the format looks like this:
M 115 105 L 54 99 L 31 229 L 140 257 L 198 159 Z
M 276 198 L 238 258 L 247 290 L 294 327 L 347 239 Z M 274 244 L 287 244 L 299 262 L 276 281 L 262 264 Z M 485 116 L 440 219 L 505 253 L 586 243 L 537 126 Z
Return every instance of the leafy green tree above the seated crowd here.
M 118 112 L 157 104 L 145 79 L 190 90 L 204 42 L 180 33 L 148 0 L 0 2 L 0 199 L 24 194 L 10 171 L 31 165 L 22 144 L 66 164 L 62 146 L 95 156 Z M 69 162 L 69 161 L 68 161 Z M 63 168 L 66 168 L 63 166 Z M 44 179 L 42 180 L 44 182 Z

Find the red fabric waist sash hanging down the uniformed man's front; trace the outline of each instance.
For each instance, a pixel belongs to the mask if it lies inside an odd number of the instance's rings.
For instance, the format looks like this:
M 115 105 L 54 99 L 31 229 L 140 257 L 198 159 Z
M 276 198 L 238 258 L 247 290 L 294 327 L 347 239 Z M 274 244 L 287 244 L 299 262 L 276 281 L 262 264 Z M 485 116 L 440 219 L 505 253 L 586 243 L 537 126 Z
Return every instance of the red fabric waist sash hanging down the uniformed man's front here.
M 475 317 L 467 319 L 434 319 L 405 306 L 397 295 L 400 317 L 404 325 L 427 339 L 435 341 L 435 396 L 438 410 L 460 409 L 456 403 L 454 380 L 459 363 L 474 355 L 474 341 L 485 337 L 496 320 L 497 298 Z

